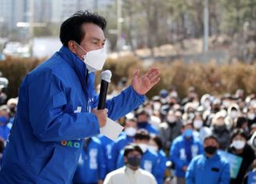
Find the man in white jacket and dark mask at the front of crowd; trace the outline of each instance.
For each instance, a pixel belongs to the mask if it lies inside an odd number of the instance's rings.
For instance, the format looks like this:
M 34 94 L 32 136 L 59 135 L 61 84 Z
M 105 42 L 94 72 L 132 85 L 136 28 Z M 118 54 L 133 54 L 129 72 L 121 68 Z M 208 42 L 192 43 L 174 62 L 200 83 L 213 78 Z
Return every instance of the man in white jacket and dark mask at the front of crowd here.
M 123 162 L 126 165 L 107 174 L 103 184 L 156 184 L 154 176 L 140 168 L 142 154 L 143 152 L 139 146 L 135 144 L 126 146 L 123 154 Z

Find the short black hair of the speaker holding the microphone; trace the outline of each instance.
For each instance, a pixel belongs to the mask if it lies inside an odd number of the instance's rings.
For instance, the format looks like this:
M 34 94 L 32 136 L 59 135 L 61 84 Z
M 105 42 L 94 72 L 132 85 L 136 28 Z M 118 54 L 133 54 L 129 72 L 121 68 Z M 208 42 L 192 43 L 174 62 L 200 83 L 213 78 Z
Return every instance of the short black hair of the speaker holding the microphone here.
M 62 23 L 59 38 L 63 46 L 68 46 L 70 40 L 74 40 L 78 44 L 82 42 L 82 38 L 86 34 L 82 31 L 84 23 L 94 23 L 102 28 L 102 30 L 106 28 L 106 19 L 102 16 L 96 13 L 92 14 L 88 10 L 77 11 Z

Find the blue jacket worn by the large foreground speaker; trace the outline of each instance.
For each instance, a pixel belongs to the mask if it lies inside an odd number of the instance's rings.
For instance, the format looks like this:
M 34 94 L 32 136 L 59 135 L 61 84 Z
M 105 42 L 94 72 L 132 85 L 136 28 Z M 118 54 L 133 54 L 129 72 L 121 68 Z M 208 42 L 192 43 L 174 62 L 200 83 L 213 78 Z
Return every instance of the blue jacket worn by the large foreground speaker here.
M 145 100 L 130 86 L 106 102 L 117 120 Z M 67 47 L 24 78 L 18 110 L 2 159 L 0 183 L 70 183 L 82 138 L 99 134 L 94 73 Z M 125 106 L 124 106 L 125 105 Z

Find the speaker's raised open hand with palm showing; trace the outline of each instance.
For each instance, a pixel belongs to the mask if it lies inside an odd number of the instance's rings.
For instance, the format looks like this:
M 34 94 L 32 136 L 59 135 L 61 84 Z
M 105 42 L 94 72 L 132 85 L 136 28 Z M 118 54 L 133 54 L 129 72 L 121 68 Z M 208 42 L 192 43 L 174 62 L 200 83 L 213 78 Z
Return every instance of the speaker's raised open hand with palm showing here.
M 131 86 L 138 94 L 146 94 L 154 85 L 156 85 L 159 78 L 160 71 L 157 67 L 152 67 L 146 74 L 139 77 L 139 70 L 134 74 Z

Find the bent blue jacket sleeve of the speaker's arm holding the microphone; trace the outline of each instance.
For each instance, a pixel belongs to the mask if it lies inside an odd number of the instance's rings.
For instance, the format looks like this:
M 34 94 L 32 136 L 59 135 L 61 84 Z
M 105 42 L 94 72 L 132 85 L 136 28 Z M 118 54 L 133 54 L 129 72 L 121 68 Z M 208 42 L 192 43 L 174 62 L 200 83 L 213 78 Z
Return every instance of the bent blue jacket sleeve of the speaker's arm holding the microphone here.
M 94 114 L 65 110 L 68 108 L 66 95 L 61 80 L 54 74 L 47 72 L 33 79 L 28 83 L 27 95 L 30 125 L 39 140 L 74 140 L 99 133 L 98 119 Z

